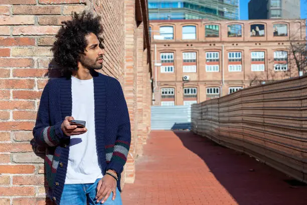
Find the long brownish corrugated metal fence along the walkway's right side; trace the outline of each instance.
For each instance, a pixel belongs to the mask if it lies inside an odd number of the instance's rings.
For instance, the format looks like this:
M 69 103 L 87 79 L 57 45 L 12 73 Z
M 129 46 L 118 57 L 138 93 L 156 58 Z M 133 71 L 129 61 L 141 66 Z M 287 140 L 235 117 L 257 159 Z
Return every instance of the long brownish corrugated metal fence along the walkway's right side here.
M 307 182 L 307 77 L 193 105 L 192 131 Z

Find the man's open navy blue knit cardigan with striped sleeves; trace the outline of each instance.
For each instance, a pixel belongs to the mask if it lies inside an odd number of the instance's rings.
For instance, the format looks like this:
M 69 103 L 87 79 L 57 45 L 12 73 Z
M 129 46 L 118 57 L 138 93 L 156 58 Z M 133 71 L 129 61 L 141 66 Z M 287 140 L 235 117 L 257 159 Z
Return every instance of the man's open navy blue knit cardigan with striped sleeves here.
M 103 174 L 108 169 L 118 173 L 117 187 L 121 191 L 120 173 L 131 141 L 127 104 L 115 78 L 94 72 L 93 82 L 98 163 Z M 65 183 L 70 144 L 61 124 L 71 113 L 71 78 L 50 79 L 42 93 L 33 135 L 38 144 L 46 147 L 48 195 L 56 204 L 60 203 Z

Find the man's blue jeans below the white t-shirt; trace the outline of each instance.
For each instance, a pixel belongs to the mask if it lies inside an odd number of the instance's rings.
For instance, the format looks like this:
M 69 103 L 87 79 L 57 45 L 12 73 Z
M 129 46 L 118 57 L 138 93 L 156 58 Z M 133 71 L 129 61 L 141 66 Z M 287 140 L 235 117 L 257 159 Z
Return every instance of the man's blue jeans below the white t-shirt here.
M 61 205 L 86 205 L 88 204 L 101 204 L 96 202 L 96 188 L 98 181 L 88 184 L 64 184 L 64 189 L 61 197 Z M 112 200 L 113 192 L 109 195 L 108 199 L 104 201 L 104 205 L 122 205 L 120 192 L 116 187 L 116 197 Z

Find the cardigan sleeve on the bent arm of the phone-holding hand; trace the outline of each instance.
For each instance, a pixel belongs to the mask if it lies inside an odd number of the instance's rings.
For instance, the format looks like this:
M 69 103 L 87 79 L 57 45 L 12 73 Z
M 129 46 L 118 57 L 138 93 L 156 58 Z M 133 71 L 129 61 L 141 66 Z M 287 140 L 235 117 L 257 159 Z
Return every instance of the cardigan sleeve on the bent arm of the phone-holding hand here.
M 50 82 L 45 86 L 40 106 L 37 114 L 36 124 L 33 129 L 33 136 L 35 138 L 36 143 L 45 147 L 54 147 L 57 146 L 61 139 L 65 138 L 61 125 L 62 122 L 58 122 L 55 125 L 50 125 L 50 107 L 49 107 L 49 88 Z

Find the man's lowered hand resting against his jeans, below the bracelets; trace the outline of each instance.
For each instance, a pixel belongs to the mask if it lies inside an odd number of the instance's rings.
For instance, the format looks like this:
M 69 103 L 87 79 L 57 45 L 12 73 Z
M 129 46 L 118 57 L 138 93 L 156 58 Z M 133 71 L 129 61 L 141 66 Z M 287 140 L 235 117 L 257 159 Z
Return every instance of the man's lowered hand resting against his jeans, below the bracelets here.
M 108 199 L 111 192 L 113 192 L 112 200 L 115 200 L 116 184 L 117 182 L 112 176 L 108 174 L 104 175 L 97 184 L 97 193 L 95 197 L 95 199 L 97 199 L 97 202 L 99 202 L 103 198 L 101 203 L 104 203 Z

